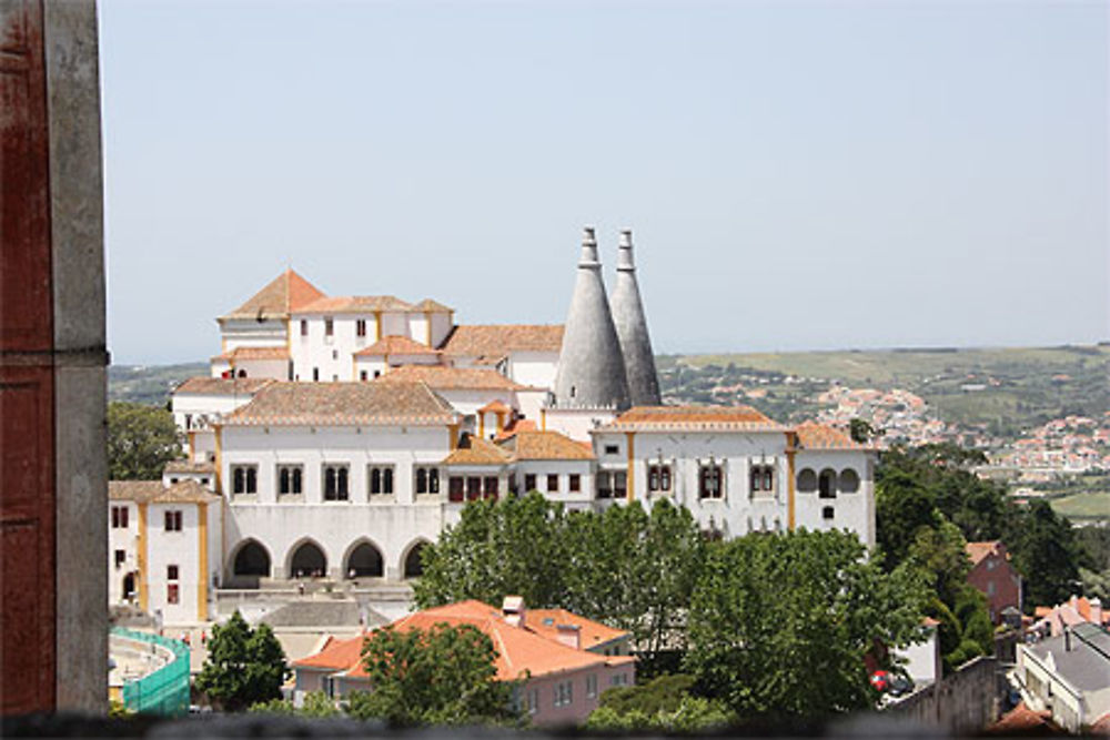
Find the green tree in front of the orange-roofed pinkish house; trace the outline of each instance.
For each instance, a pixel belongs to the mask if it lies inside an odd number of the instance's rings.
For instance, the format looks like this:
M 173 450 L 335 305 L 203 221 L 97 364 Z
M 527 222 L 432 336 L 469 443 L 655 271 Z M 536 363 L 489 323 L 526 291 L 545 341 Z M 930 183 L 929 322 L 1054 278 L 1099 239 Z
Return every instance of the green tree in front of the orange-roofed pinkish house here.
M 352 695 L 347 712 L 394 727 L 517 722 L 515 686 L 497 680 L 496 658 L 493 641 L 472 625 L 385 627 L 362 649 L 373 690 Z

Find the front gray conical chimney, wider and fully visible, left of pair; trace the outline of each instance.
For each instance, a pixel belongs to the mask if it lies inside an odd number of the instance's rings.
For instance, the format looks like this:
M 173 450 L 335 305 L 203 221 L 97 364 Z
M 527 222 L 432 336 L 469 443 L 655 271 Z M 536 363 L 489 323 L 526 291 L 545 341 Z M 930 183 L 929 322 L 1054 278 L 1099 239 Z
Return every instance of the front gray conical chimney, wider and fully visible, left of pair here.
M 628 408 L 628 381 L 620 341 L 597 261 L 594 230 L 582 239 L 578 280 L 563 330 L 563 349 L 555 374 L 555 406 L 562 408 Z

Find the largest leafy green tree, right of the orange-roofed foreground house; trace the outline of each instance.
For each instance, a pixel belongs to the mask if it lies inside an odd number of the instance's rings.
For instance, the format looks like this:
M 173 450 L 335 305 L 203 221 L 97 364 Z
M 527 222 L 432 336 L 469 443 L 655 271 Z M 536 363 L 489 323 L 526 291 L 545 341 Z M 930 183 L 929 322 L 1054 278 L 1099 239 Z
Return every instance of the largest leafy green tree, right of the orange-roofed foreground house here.
M 717 543 L 694 590 L 685 668 L 746 720 L 874 707 L 865 656 L 922 636 L 919 574 L 885 574 L 847 531 Z

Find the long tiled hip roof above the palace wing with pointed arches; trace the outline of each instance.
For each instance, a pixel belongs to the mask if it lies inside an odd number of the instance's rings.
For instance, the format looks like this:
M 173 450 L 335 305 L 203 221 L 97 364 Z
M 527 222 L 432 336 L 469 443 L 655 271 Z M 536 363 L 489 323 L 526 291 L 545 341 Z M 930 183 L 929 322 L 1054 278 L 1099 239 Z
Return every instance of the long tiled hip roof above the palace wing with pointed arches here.
M 230 426 L 456 424 L 458 415 L 423 383 L 271 383 L 224 416 Z

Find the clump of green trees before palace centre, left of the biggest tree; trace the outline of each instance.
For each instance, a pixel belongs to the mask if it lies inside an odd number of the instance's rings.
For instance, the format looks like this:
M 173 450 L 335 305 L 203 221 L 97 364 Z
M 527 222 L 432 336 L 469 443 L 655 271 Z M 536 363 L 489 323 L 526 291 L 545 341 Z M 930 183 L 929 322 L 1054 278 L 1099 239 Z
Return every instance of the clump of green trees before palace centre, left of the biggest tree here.
M 424 554 L 416 604 L 507 595 L 633 633 L 652 673 L 685 645 L 684 617 L 705 541 L 685 508 L 659 501 L 564 514 L 539 494 L 473 501 Z

